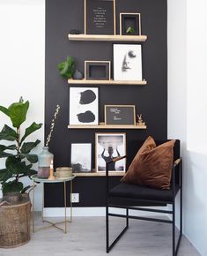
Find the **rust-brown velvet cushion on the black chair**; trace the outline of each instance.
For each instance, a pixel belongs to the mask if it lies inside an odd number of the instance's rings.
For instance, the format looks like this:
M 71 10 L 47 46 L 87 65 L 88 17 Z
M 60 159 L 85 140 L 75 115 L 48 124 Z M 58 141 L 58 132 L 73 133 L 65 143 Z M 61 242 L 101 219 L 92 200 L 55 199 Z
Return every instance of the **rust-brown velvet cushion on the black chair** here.
M 148 137 L 121 181 L 169 189 L 174 160 L 174 142 L 175 140 L 170 140 L 156 147 L 154 139 Z

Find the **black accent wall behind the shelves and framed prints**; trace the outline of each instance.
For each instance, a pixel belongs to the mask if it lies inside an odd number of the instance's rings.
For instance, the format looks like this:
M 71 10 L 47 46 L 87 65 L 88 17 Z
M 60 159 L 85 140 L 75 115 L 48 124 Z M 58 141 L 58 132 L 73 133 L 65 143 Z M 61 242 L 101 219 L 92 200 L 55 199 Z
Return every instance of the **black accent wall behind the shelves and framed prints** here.
M 166 56 L 166 0 L 116 0 L 116 25 L 119 33 L 120 12 L 141 12 L 142 34 L 148 36 L 143 46 L 143 77 L 146 86 L 99 87 L 100 122 L 104 120 L 105 104 L 135 104 L 137 113 L 143 114 L 146 130 L 70 130 L 69 85 L 58 72 L 57 64 L 66 56 L 73 56 L 78 70 L 84 72 L 84 61 L 112 60 L 113 42 L 69 41 L 70 29 L 84 34 L 84 0 L 46 0 L 46 77 L 45 77 L 45 137 L 56 104 L 61 109 L 55 122 L 55 130 L 49 150 L 55 155 L 55 167 L 70 165 L 70 143 L 91 142 L 92 167 L 94 168 L 95 132 L 126 132 L 129 162 L 137 152 L 137 139 L 152 135 L 166 139 L 167 129 L 167 56 Z M 130 43 L 130 42 L 126 42 Z M 112 177 L 112 184 L 119 177 Z M 63 184 L 45 186 L 46 207 L 63 206 Z M 69 189 L 69 188 L 68 188 Z M 99 207 L 105 204 L 104 177 L 76 177 L 73 192 L 79 192 L 77 207 Z

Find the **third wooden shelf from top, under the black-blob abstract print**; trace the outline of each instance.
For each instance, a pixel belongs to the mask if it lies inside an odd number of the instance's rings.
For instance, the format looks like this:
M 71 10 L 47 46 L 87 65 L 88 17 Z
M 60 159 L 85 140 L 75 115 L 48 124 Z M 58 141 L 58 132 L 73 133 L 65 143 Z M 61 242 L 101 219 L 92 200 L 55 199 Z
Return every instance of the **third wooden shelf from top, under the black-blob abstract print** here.
M 69 129 L 141 129 L 141 130 L 144 130 L 146 129 L 146 125 L 107 125 L 104 123 L 100 123 L 99 125 L 69 124 L 68 128 Z

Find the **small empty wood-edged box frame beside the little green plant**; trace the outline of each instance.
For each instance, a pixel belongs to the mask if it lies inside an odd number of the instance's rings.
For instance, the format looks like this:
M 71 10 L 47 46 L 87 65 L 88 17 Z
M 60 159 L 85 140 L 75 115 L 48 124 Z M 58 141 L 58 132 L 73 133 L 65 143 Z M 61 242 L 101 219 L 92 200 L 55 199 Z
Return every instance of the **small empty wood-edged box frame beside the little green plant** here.
M 85 79 L 109 80 L 111 79 L 110 61 L 85 61 Z

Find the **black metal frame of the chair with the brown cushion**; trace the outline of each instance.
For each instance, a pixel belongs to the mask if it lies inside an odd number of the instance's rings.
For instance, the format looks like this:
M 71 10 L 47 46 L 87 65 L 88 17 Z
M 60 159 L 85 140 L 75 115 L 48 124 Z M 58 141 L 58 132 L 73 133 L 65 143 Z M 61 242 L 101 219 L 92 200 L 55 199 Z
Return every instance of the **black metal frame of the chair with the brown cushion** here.
M 180 147 L 180 141 L 179 141 L 179 147 Z M 179 149 L 180 154 L 180 149 Z M 181 243 L 181 235 L 182 235 L 182 164 L 181 164 L 181 158 L 178 158 L 174 161 L 172 166 L 172 178 L 171 178 L 171 187 L 170 190 L 172 191 L 172 200 L 141 200 L 137 197 L 137 199 L 131 199 L 131 198 L 123 198 L 122 196 L 119 198 L 111 197 L 110 191 L 109 191 L 109 175 L 108 175 L 108 167 L 111 162 L 117 162 L 121 159 L 126 158 L 125 156 L 117 157 L 113 161 L 107 162 L 106 164 L 106 239 L 107 239 L 107 252 L 110 252 L 110 250 L 114 247 L 114 245 L 118 242 L 118 240 L 122 237 L 122 235 L 125 233 L 125 231 L 129 228 L 129 219 L 137 219 L 137 220 L 144 220 L 144 221 L 151 221 L 151 222 L 164 222 L 164 223 L 170 223 L 172 224 L 173 230 L 172 230 L 172 238 L 173 238 L 173 256 L 176 256 L 179 250 L 179 245 Z M 178 237 L 178 241 L 175 244 L 175 198 L 177 192 L 180 191 L 180 233 Z M 112 200 L 113 199 L 113 200 Z M 112 201 L 111 201 L 112 200 Z M 115 202 L 115 200 L 118 201 L 118 203 Z M 125 203 L 121 203 L 122 201 L 125 201 Z M 126 201 L 129 201 L 126 203 Z M 131 203 L 132 202 L 132 203 Z M 149 208 L 149 206 L 165 206 L 167 204 L 172 205 L 171 210 L 162 210 L 162 209 L 155 209 L 155 208 Z M 131 206 L 133 205 L 133 206 Z M 145 205 L 148 207 L 140 207 Z M 115 207 L 115 208 L 124 208 L 126 209 L 126 214 L 114 214 L 109 213 L 109 207 Z M 129 210 L 138 210 L 138 211 L 147 211 L 147 212 L 153 212 L 153 213 L 161 213 L 161 214 L 167 214 L 172 215 L 171 219 L 159 219 L 159 218 L 152 218 L 152 217 L 145 217 L 145 216 L 135 216 L 135 215 L 129 215 Z M 126 226 L 122 230 L 122 232 L 115 238 L 115 240 L 109 245 L 109 216 L 114 217 L 122 217 L 126 218 Z

